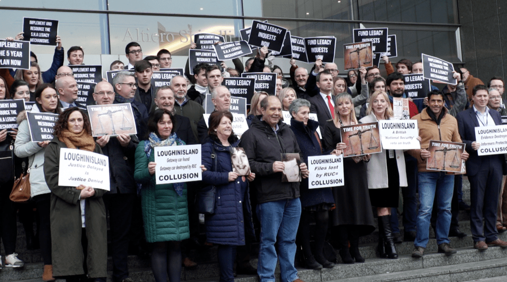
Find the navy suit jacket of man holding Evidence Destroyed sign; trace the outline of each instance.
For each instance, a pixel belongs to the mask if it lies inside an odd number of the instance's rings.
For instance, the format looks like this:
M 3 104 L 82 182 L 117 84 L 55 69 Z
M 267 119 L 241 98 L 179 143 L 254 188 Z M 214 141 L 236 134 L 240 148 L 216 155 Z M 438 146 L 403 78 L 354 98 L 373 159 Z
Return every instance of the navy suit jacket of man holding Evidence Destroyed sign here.
M 495 110 L 490 110 L 489 114 L 493 118 L 495 125 L 501 125 L 500 113 Z M 465 143 L 465 149 L 470 154 L 466 160 L 466 174 L 474 176 L 477 174 L 482 166 L 483 160 L 490 158 L 493 168 L 502 168 L 503 175 L 507 174 L 507 167 L 505 166 L 504 154 L 479 156 L 477 151 L 472 149 L 472 142 L 476 141 L 475 128 L 479 126 L 474 107 L 461 111 L 456 116 L 458 120 L 458 130 L 461 136 L 461 141 Z M 480 150 L 481 148 L 479 148 Z

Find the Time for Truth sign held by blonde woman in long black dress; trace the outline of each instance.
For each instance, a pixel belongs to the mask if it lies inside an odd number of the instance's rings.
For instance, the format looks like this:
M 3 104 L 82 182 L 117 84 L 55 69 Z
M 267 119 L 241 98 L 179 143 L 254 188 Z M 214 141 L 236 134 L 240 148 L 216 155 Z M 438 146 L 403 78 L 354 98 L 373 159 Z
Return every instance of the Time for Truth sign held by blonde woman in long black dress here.
M 342 142 L 347 145 L 343 151 L 344 157 L 382 152 L 378 122 L 342 126 L 340 132 Z

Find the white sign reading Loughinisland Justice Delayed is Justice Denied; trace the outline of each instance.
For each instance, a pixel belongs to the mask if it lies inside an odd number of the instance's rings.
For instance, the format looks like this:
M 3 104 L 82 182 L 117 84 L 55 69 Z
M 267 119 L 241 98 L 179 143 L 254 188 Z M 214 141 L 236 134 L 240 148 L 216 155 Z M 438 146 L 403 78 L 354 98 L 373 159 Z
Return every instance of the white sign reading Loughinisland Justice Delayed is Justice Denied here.
M 110 190 L 109 157 L 98 153 L 61 148 L 58 185 Z

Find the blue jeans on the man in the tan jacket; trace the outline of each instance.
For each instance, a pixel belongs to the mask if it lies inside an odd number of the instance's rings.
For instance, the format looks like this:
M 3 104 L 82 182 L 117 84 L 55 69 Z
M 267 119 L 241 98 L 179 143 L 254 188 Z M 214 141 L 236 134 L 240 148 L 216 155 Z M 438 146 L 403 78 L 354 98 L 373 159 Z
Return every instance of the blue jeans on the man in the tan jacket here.
M 454 191 L 454 175 L 445 172 L 419 172 L 419 213 L 415 247 L 426 248 L 434 197 L 437 196 L 437 244 L 449 243 L 451 226 L 451 199 Z

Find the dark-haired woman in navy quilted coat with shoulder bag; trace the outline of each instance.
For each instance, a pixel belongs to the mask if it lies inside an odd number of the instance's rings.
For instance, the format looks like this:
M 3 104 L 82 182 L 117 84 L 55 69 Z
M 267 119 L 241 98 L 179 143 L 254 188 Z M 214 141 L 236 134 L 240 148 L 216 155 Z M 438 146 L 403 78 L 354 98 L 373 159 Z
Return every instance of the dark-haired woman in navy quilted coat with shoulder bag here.
M 206 215 L 206 240 L 219 245 L 220 282 L 234 281 L 236 247 L 248 244 L 253 232 L 248 181 L 255 174 L 233 171 L 231 154 L 239 139 L 232 131 L 233 116 L 215 111 L 209 116 L 209 141 L 202 145 L 202 163 L 206 171 L 202 180 L 216 187 L 214 214 Z M 214 158 L 213 158 L 214 155 Z M 248 180 L 248 181 L 247 181 Z

